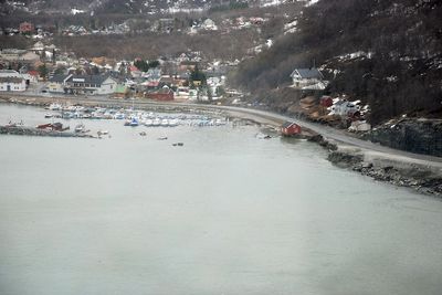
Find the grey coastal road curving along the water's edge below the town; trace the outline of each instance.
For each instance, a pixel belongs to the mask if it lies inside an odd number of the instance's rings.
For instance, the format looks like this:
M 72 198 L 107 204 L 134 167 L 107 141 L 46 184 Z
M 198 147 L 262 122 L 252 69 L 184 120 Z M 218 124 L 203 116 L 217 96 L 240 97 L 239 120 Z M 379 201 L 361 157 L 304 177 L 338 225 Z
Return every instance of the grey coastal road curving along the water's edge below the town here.
M 149 107 L 149 106 L 161 106 L 161 107 L 188 107 L 188 108 L 202 108 L 202 109 L 219 109 L 225 110 L 233 116 L 238 117 L 249 117 L 256 122 L 271 125 L 281 125 L 283 122 L 290 120 L 303 126 L 304 128 L 311 129 L 317 134 L 320 134 L 326 139 L 333 139 L 340 145 L 347 145 L 362 149 L 365 152 L 377 152 L 377 156 L 383 157 L 386 159 L 396 159 L 408 162 L 415 162 L 418 165 L 424 165 L 428 167 L 433 167 L 436 169 L 442 169 L 442 158 L 433 157 L 428 155 L 420 155 L 408 152 L 403 150 L 392 149 L 389 147 L 381 146 L 379 144 L 373 144 L 371 141 L 358 139 L 350 136 L 345 130 L 339 130 L 332 128 L 329 126 L 319 125 L 315 123 L 309 123 L 305 120 L 299 120 L 294 117 L 276 114 L 269 110 L 260 110 L 253 108 L 234 107 L 234 106 L 217 106 L 217 105 L 201 105 L 201 104 L 189 104 L 189 103 L 157 103 L 147 101 L 131 101 L 131 99 L 116 99 L 108 97 L 73 97 L 73 96 L 13 96 L 15 99 L 27 99 L 27 101 L 42 101 L 42 102 L 70 102 L 78 104 L 95 104 L 95 105 L 108 105 L 108 106 L 122 106 L 122 107 Z

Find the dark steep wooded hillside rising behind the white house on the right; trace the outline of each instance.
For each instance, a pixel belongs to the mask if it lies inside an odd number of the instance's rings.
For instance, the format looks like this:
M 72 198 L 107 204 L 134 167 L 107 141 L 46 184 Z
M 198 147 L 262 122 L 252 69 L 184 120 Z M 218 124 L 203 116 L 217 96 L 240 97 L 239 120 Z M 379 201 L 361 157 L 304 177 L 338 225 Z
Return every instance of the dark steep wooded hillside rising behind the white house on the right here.
M 231 82 L 263 93 L 287 85 L 294 67 L 316 64 L 332 81 L 327 92 L 368 103 L 375 124 L 402 114 L 440 116 L 440 15 L 438 0 L 319 1 L 305 9 L 296 33 L 243 62 Z M 347 55 L 355 52 L 364 53 Z

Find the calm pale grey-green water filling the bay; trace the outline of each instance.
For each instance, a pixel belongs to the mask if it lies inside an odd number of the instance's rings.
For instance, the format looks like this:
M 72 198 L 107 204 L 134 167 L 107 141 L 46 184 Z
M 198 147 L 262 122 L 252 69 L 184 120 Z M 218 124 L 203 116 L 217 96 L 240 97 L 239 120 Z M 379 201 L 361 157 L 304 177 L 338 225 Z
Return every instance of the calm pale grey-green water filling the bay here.
M 442 292 L 438 199 L 252 126 L 84 123 L 112 138 L 0 136 L 2 295 Z

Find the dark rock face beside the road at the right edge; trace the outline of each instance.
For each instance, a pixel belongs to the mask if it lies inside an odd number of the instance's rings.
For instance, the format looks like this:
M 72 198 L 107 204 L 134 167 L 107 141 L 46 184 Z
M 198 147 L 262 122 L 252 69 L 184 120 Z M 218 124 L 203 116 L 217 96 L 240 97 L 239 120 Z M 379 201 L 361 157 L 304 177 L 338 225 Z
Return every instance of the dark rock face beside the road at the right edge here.
M 366 134 L 365 139 L 396 149 L 442 157 L 442 120 L 389 122 Z

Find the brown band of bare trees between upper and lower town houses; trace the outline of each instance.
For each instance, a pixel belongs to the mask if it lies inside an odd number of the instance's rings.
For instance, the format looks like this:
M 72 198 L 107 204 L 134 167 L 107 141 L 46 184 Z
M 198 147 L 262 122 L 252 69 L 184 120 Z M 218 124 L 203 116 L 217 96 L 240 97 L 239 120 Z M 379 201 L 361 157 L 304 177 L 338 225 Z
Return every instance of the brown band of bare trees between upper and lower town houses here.
M 256 39 L 253 31 L 234 31 L 231 34 L 208 32 L 197 35 L 171 34 L 127 34 L 56 36 L 54 43 L 61 49 L 71 49 L 77 56 L 107 56 L 116 59 L 157 59 L 177 56 L 187 51 L 200 51 L 209 60 L 241 59 Z

